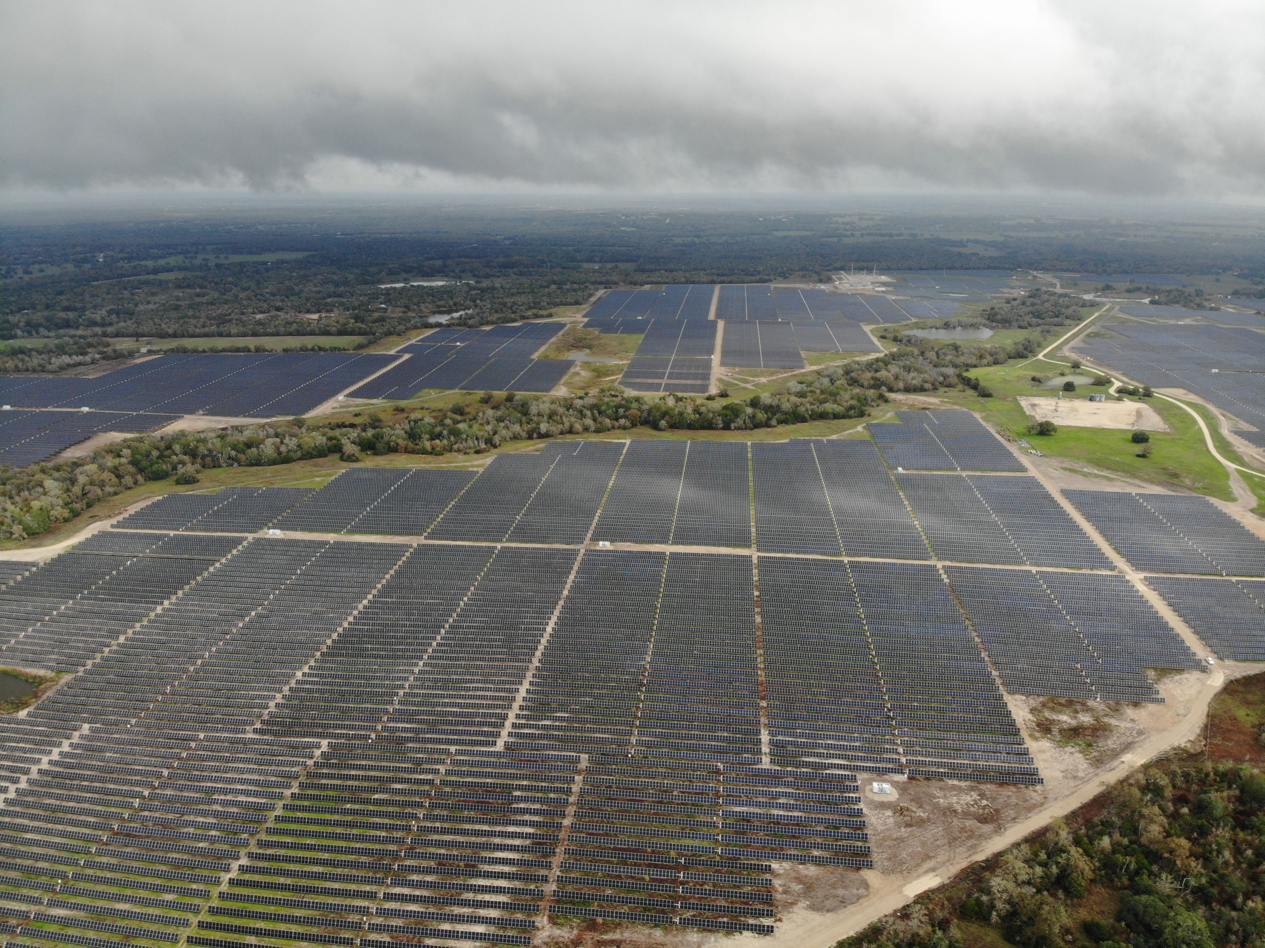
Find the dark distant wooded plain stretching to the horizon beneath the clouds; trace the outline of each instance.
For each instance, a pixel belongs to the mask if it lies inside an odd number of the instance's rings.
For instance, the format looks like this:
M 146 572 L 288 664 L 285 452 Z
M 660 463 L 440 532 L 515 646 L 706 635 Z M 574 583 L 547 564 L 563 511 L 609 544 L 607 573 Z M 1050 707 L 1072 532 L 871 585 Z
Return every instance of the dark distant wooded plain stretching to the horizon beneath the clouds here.
M 1236 273 L 1259 283 L 1265 238 L 1209 243 L 1195 230 L 1004 215 L 557 207 L 10 224 L 0 229 L 0 340 L 377 339 L 436 313 L 460 313 L 457 325 L 522 319 L 611 286 L 822 281 L 854 265 Z

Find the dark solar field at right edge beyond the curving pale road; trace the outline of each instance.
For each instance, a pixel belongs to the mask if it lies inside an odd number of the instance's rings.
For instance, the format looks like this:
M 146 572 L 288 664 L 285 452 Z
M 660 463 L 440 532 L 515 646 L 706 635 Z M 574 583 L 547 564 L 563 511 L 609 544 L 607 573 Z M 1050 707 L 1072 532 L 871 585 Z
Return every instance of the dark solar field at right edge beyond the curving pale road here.
M 1217 315 L 1217 313 L 1211 313 Z M 1089 358 L 1154 388 L 1184 388 L 1254 427 L 1265 428 L 1265 335 L 1208 325 L 1112 324 L 1111 336 L 1077 346 Z

